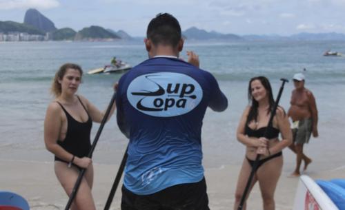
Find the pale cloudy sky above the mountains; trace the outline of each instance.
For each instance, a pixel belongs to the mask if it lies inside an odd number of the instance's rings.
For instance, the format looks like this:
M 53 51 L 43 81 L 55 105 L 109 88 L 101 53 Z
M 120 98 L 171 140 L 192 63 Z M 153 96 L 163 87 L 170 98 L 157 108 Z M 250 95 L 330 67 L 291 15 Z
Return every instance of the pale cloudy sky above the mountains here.
M 339 32 L 345 34 L 345 0 L 0 0 L 0 21 L 23 22 L 36 8 L 57 28 L 100 25 L 144 36 L 159 12 L 192 26 L 233 34 Z

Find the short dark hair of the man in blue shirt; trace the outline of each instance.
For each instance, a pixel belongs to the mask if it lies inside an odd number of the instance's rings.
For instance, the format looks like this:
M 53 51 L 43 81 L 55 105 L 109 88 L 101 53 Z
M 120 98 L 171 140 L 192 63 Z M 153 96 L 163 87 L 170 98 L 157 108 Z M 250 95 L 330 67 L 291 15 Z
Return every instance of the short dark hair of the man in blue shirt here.
M 146 36 L 154 45 L 172 45 L 175 47 L 181 39 L 179 21 L 171 14 L 159 13 L 148 23 Z

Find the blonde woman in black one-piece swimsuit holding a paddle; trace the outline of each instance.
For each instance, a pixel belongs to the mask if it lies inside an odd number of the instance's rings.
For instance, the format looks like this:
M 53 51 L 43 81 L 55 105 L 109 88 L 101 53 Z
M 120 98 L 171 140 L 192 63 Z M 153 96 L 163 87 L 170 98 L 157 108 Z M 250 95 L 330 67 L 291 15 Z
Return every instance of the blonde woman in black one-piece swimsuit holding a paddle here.
M 79 170 L 86 169 L 73 210 L 95 210 L 91 188 L 93 181 L 92 160 L 88 158 L 91 148 L 90 131 L 92 121 L 101 123 L 105 112 L 100 112 L 83 96 L 77 95 L 83 72 L 79 65 L 66 63 L 55 74 L 50 103 L 44 121 L 46 148 L 55 154 L 55 174 L 63 189 L 70 195 Z M 115 110 L 112 106 L 110 115 Z

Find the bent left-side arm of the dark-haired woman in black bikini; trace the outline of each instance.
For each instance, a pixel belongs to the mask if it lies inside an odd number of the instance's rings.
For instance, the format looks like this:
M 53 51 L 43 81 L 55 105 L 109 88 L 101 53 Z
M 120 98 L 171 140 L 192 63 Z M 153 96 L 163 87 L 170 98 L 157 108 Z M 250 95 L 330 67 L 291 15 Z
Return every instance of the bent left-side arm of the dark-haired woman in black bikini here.
M 248 137 L 246 134 L 244 134 L 249 109 L 250 107 L 246 107 L 241 119 L 239 120 L 239 125 L 237 127 L 237 140 L 247 147 L 266 147 L 267 143 L 265 141 L 259 141 L 258 138 Z

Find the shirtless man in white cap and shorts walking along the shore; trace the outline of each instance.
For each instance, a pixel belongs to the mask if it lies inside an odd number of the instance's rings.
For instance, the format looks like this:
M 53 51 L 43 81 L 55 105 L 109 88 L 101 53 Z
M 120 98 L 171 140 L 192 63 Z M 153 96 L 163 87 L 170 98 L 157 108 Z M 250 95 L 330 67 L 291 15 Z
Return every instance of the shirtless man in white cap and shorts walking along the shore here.
M 317 107 L 313 93 L 304 87 L 304 74 L 298 73 L 293 76 L 293 90 L 290 101 L 290 109 L 288 109 L 288 116 L 293 120 L 291 127 L 293 132 L 293 144 L 290 149 L 297 155 L 297 165 L 292 176 L 299 176 L 299 167 L 302 160 L 304 160 L 304 170 L 311 163 L 311 158 L 308 158 L 303 153 L 304 143 L 308 143 L 311 134 L 313 137 L 319 136 L 317 132 Z

